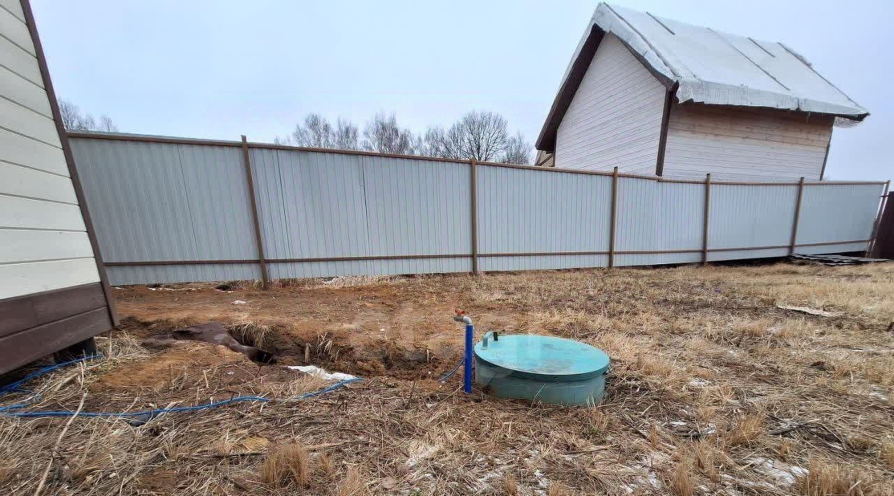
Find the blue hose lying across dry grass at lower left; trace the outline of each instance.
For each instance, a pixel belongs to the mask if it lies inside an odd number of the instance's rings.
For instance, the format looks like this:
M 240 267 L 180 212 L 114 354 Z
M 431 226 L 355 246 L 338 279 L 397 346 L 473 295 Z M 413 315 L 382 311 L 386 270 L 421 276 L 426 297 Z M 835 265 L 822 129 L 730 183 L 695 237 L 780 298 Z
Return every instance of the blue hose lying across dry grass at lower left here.
M 21 386 L 21 384 L 23 384 L 23 383 L 27 383 L 28 381 L 30 381 L 31 379 L 34 379 L 35 377 L 39 377 L 43 374 L 48 374 L 50 372 L 53 372 L 57 368 L 71 365 L 76 362 L 82 362 L 84 360 L 89 360 L 90 358 L 96 358 L 96 357 L 97 356 L 82 357 L 82 358 L 78 358 L 76 360 L 70 360 L 68 362 L 64 362 L 62 364 L 56 364 L 55 366 L 47 366 L 45 368 L 42 368 L 42 369 L 38 370 L 37 372 L 26 375 L 21 380 L 16 381 L 15 383 L 10 383 L 3 387 L 0 387 L 0 397 L 4 396 L 7 393 L 14 392 L 14 391 L 29 392 L 29 391 L 21 390 L 19 388 L 19 386 Z M 344 387 L 347 384 L 355 383 L 358 381 L 362 381 L 362 379 L 360 379 L 359 377 L 353 377 L 350 379 L 346 379 L 344 381 L 334 383 L 330 386 L 326 386 L 325 388 L 323 388 L 319 391 L 313 391 L 313 392 L 308 392 L 308 393 L 302 394 L 301 396 L 299 396 L 296 399 L 313 398 L 315 396 L 319 396 L 321 394 L 325 394 L 330 391 L 335 391 L 337 389 Z M 77 416 L 92 416 L 92 417 L 105 417 L 105 418 L 107 418 L 107 417 L 121 417 L 121 418 L 137 417 L 137 418 L 139 418 L 141 416 L 145 416 L 145 417 L 147 417 L 146 420 L 148 420 L 148 419 L 154 418 L 155 416 L 163 415 L 166 413 L 194 412 L 194 411 L 199 411 L 199 410 L 206 410 L 208 408 L 223 407 L 224 405 L 230 405 L 232 403 L 238 403 L 240 401 L 261 401 L 261 402 L 267 403 L 267 402 L 276 401 L 276 400 L 269 399 L 269 398 L 263 398 L 260 396 L 237 396 L 235 398 L 223 399 L 221 401 L 213 401 L 213 402 L 207 403 L 205 405 L 196 405 L 194 407 L 155 408 L 152 410 L 143 410 L 143 411 L 139 411 L 139 412 L 117 412 L 117 413 L 115 413 L 115 412 L 80 412 L 77 414 Z M 72 412 L 70 410 L 48 410 L 48 411 L 45 410 L 45 411 L 38 411 L 38 412 L 11 411 L 11 410 L 25 408 L 27 406 L 28 406 L 28 403 L 25 402 L 25 403 L 17 403 L 15 405 L 8 405 L 5 407 L 0 407 L 0 416 L 36 417 L 36 416 L 74 416 L 75 415 L 75 412 Z

